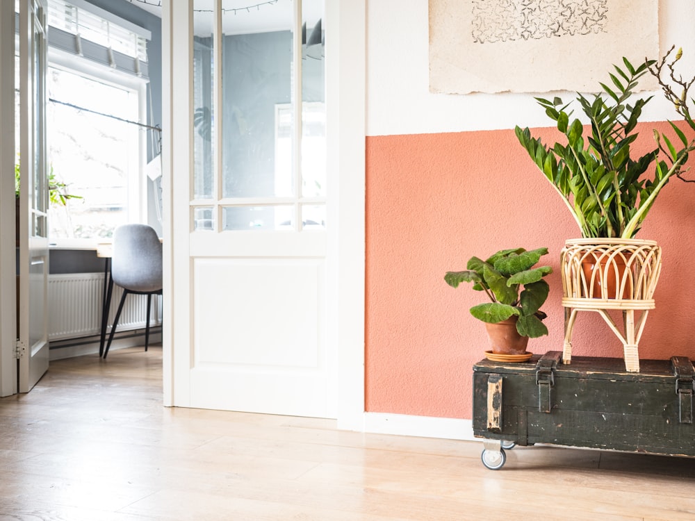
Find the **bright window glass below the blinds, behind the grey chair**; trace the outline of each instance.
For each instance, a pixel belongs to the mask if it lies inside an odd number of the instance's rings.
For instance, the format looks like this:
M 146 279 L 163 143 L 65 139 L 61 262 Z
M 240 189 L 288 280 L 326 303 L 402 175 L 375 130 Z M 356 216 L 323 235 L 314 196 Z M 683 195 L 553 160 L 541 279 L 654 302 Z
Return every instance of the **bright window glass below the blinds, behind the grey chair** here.
M 61 187 L 51 198 L 49 238 L 110 238 L 116 226 L 140 220 L 142 131 L 129 123 L 139 119 L 139 93 L 55 66 L 47 85 L 49 183 Z

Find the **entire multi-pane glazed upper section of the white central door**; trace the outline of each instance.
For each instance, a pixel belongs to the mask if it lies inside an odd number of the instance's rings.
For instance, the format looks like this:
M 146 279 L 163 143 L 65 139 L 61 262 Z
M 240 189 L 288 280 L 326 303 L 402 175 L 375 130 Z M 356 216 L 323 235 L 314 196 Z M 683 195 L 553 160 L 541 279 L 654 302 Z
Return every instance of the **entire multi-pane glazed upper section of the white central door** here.
M 193 9 L 193 229 L 322 229 L 324 0 Z

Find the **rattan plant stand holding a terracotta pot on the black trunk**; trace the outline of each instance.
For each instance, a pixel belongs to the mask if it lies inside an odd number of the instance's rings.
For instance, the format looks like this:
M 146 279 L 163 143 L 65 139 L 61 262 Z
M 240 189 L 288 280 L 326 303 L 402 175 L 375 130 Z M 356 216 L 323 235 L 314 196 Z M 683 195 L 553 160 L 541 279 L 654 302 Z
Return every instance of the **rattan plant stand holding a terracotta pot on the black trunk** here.
M 594 268 L 596 266 L 596 268 Z M 565 336 L 562 362 L 572 360 L 572 330 L 579 311 L 598 313 L 623 343 L 625 368 L 639 372 L 639 339 L 661 272 L 661 249 L 653 240 L 570 239 L 560 254 Z M 622 330 L 609 314 L 619 310 Z M 637 316 L 635 315 L 637 312 Z

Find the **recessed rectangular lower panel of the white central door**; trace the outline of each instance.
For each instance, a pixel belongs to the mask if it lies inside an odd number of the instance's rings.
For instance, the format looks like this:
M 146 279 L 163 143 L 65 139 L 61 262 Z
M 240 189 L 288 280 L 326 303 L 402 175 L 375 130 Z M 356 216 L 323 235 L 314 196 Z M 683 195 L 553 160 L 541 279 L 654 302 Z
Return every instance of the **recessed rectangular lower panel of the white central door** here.
M 322 261 L 303 259 L 195 260 L 197 365 L 316 370 L 322 343 L 322 267 Z M 202 289 L 211 287 L 214 295 Z M 229 306 L 230 299 L 237 304 Z

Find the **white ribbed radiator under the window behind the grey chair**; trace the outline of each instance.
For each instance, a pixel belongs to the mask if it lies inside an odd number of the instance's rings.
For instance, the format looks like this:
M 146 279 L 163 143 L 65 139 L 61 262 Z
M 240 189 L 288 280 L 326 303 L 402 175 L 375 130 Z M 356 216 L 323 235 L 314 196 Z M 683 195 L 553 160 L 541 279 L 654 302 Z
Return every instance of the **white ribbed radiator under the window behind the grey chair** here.
M 104 290 L 103 273 L 52 274 L 48 279 L 48 338 L 79 338 L 101 333 L 101 302 Z M 111 324 L 123 294 L 122 288 L 113 286 Z M 123 306 L 117 331 L 141 329 L 147 320 L 147 295 L 128 295 Z M 161 324 L 161 297 L 152 298 L 150 324 Z

